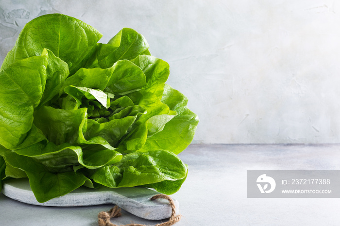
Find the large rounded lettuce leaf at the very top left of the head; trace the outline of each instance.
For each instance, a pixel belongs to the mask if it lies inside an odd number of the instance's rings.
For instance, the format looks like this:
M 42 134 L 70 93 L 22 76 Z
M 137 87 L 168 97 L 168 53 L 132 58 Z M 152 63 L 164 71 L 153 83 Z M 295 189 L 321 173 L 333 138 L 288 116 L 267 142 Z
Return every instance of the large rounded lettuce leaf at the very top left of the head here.
M 79 19 L 62 14 L 39 16 L 25 25 L 1 69 L 18 60 L 40 56 L 47 48 L 68 64 L 72 75 L 85 65 L 101 37 L 100 32 Z

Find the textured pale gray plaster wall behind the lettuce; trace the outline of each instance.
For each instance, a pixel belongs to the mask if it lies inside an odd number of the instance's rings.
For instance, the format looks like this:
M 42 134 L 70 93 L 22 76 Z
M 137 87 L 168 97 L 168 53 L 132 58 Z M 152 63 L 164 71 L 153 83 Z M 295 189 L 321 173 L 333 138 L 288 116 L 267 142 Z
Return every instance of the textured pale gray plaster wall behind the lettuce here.
M 195 143 L 339 143 L 339 0 L 0 0 L 0 60 L 62 13 L 142 33 L 200 117 Z

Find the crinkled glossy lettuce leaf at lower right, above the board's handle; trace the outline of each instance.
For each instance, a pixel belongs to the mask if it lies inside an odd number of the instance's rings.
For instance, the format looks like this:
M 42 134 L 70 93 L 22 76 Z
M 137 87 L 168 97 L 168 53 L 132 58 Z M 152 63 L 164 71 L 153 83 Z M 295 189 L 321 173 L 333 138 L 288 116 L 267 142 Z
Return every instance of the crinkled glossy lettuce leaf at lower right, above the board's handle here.
M 127 154 L 118 163 L 98 169 L 91 179 L 117 188 L 174 181 L 186 176 L 187 167 L 175 154 L 158 150 Z

